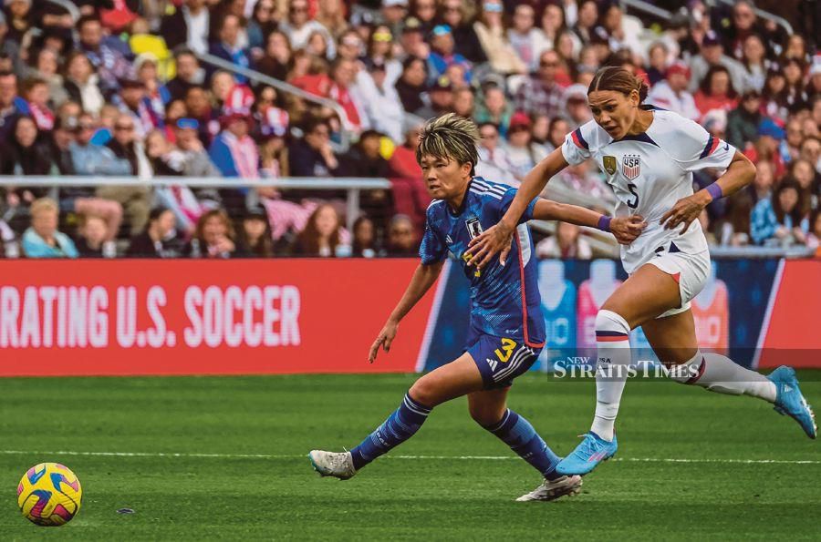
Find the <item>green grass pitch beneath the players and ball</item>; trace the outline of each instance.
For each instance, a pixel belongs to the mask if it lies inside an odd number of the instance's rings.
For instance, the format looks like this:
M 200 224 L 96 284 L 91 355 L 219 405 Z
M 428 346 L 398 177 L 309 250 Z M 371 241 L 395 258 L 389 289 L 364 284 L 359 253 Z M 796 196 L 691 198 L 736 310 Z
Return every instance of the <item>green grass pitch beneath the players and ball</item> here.
M 821 373 L 802 377 L 808 400 L 821 405 Z M 414 378 L 0 380 L 0 539 L 800 539 L 821 532 L 821 443 L 768 404 L 674 383 L 628 384 L 617 458 L 571 499 L 514 502 L 539 476 L 473 423 L 463 398 L 435 409 L 411 441 L 352 480 L 311 469 L 310 449 L 359 444 Z M 587 430 L 594 398 L 592 382 L 529 374 L 516 381 L 510 406 L 566 454 Z M 17 509 L 20 476 L 42 461 L 68 465 L 82 482 L 82 509 L 65 527 L 36 527 Z M 124 507 L 135 513 L 118 514 Z

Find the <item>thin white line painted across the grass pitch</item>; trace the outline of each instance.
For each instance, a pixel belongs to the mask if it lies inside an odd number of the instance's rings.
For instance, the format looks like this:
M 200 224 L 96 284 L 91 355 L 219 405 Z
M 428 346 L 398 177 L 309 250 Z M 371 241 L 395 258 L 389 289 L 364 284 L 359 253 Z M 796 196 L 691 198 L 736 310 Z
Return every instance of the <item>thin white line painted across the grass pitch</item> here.
M 212 459 L 303 459 L 306 455 L 269 454 L 174 454 L 168 452 L 36 452 L 26 450 L 0 450 L 0 455 L 84 455 L 95 457 L 193 457 Z M 459 460 L 459 461 L 506 461 L 519 458 L 515 455 L 385 455 L 388 459 Z M 721 463 L 738 465 L 821 465 L 814 459 L 709 459 L 690 457 L 614 457 L 611 461 L 625 463 Z

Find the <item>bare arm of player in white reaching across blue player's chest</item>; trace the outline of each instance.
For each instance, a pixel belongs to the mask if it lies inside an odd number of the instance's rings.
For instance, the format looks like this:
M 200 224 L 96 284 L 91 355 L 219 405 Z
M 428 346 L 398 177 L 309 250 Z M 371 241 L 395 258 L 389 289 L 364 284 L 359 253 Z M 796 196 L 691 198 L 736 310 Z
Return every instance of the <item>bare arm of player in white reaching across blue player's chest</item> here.
M 542 193 L 542 190 L 547 186 L 547 181 L 566 167 L 567 161 L 562 154 L 561 148 L 556 148 L 547 155 L 546 159 L 536 164 L 535 168 L 525 175 L 522 186 L 516 192 L 516 196 L 504 213 L 502 220 L 499 220 L 498 224 L 484 230 L 480 236 L 471 240 L 466 253 L 471 254 L 473 257 L 468 265 L 475 265 L 477 268 L 482 269 L 500 252 L 499 261 L 504 265 L 507 253 L 510 252 L 513 232 L 527 206 L 536 196 Z

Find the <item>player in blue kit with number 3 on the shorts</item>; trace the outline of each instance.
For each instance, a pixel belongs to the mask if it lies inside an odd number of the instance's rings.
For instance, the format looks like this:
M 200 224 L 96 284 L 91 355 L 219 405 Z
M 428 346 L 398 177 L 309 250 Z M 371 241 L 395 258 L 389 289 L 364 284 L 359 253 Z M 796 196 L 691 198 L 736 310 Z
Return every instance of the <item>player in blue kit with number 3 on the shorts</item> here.
M 467 395 L 473 420 L 544 476 L 535 491 L 519 500 L 553 500 L 574 495 L 581 486 L 579 476 L 556 473 L 559 458 L 524 417 L 507 408 L 506 399 L 514 378 L 535 362 L 545 343 L 534 246 L 525 222 L 565 220 L 597 227 L 607 218 L 592 210 L 533 196 L 516 220 L 511 263 L 492 262 L 482 271 L 468 267 L 468 243 L 502 218 L 516 194 L 507 185 L 474 177 L 478 140 L 476 125 L 452 114 L 429 121 L 421 132 L 416 158 L 435 198 L 427 210 L 421 264 L 371 346 L 369 360 L 376 360 L 380 347 L 385 352 L 390 350 L 399 322 L 439 277 L 448 252 L 462 263 L 471 281 L 473 306 L 465 352 L 417 380 L 396 412 L 360 445 L 340 453 L 313 450 L 309 454 L 311 463 L 322 476 L 354 476 L 379 455 L 411 438 L 433 407 Z M 622 243 L 634 240 L 643 227 L 640 217 L 609 221 L 609 230 Z

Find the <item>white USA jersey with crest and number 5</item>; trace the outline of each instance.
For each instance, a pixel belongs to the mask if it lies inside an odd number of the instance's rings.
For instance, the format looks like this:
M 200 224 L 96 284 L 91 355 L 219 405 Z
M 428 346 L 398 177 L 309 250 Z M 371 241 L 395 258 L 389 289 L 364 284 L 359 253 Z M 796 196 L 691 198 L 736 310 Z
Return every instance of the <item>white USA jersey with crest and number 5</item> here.
M 638 214 L 647 228 L 629 246 L 621 245 L 621 262 L 628 273 L 656 254 L 707 251 L 701 224 L 693 220 L 681 233 L 665 230 L 660 219 L 681 198 L 691 196 L 692 172 L 727 169 L 735 148 L 678 113 L 652 106 L 653 121 L 646 132 L 613 139 L 591 120 L 567 134 L 562 154 L 570 165 L 595 159 L 616 193 L 616 216 Z

